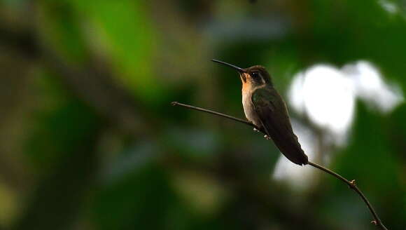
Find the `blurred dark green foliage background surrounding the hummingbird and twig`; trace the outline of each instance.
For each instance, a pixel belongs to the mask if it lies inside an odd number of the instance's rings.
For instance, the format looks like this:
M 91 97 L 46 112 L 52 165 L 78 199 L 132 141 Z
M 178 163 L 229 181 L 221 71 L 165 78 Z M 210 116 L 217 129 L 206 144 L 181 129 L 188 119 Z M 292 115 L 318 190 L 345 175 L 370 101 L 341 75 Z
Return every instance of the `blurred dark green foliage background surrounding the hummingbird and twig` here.
M 237 75 L 282 95 L 318 63 L 376 65 L 406 90 L 405 1 L 0 1 L 1 229 L 373 229 L 341 182 L 269 179 L 279 152 L 243 116 Z M 394 9 L 394 10 L 393 10 Z M 406 109 L 357 102 L 330 168 L 388 229 L 406 226 Z M 292 113 L 295 119 L 304 119 Z

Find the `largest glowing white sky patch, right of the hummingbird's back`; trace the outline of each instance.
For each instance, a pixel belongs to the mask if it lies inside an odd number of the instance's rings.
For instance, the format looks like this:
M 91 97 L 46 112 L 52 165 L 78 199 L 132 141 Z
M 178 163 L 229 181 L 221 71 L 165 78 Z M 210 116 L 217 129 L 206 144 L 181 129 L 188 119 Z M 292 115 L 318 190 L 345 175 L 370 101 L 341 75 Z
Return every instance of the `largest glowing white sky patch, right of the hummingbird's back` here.
M 388 84 L 376 67 L 360 61 L 337 69 L 315 65 L 299 72 L 290 85 L 290 105 L 307 114 L 312 123 L 342 144 L 353 121 L 356 98 L 370 107 L 388 113 L 404 98 L 400 87 Z

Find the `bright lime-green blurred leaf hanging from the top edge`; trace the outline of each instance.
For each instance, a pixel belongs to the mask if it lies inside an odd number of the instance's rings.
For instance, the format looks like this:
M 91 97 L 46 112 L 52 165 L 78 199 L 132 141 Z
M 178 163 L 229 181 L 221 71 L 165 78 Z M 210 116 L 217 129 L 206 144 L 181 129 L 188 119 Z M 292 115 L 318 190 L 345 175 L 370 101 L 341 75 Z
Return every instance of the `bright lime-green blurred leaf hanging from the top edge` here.
M 157 34 L 142 1 L 73 1 L 86 33 L 113 63 L 121 83 L 146 101 L 157 100 L 162 85 L 153 76 Z

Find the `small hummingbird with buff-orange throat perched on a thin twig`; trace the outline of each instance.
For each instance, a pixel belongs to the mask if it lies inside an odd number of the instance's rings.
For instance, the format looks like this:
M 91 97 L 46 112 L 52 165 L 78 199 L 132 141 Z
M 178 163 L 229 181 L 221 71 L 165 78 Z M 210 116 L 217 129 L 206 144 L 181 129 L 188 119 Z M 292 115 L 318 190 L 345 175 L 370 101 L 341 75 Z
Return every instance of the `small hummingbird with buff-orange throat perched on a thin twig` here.
M 265 67 L 254 65 L 242 69 L 227 62 L 212 61 L 232 67 L 239 73 L 246 119 L 265 133 L 265 138 L 270 137 L 286 158 L 297 165 L 306 165 L 307 155 L 293 133 L 286 103 L 274 88 Z

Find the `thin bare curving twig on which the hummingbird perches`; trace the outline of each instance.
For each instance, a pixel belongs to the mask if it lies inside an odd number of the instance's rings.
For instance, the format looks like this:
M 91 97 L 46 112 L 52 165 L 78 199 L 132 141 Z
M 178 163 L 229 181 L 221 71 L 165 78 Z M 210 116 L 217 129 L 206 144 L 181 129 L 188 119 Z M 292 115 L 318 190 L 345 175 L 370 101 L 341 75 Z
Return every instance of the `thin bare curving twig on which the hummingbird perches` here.
M 209 109 L 203 109 L 203 108 L 200 108 L 200 107 L 194 107 L 192 105 L 182 104 L 182 103 L 179 103 L 179 102 L 172 102 L 171 104 L 173 106 L 179 105 L 181 107 L 186 107 L 188 109 L 194 109 L 194 110 L 197 110 L 197 111 L 204 111 L 206 113 L 214 114 L 214 115 L 217 115 L 217 116 L 223 116 L 226 119 L 231 119 L 231 120 L 237 121 L 239 123 L 244 123 L 244 124 L 246 124 L 248 126 L 256 128 L 257 130 L 260 130 L 260 132 L 264 133 L 260 128 L 255 126 L 253 123 L 251 123 L 249 121 L 246 121 L 246 120 L 243 120 L 243 119 L 238 119 L 238 118 L 236 118 L 234 116 L 230 116 L 230 115 L 227 115 L 227 114 L 221 114 L 221 113 L 219 113 L 217 111 L 211 111 Z M 266 133 L 264 133 L 264 134 L 266 134 Z M 353 191 L 355 191 L 363 199 L 364 203 L 367 205 L 367 208 L 370 210 L 372 216 L 374 217 L 374 220 L 372 220 L 371 223 L 374 224 L 375 226 L 379 226 L 379 228 L 381 228 L 383 230 L 388 230 L 388 229 L 386 229 L 386 226 L 384 226 L 384 224 L 381 222 L 381 219 L 379 218 L 379 216 L 377 215 L 377 212 L 372 207 L 370 201 L 368 201 L 368 199 L 365 197 L 363 192 L 360 191 L 360 189 L 358 189 L 358 187 L 356 186 L 355 180 L 351 180 L 351 181 L 346 180 L 344 177 L 342 177 L 342 175 L 339 175 L 338 173 L 333 172 L 332 170 L 329 170 L 328 168 L 325 168 L 325 167 L 323 167 L 321 165 L 318 165 L 317 163 L 313 163 L 313 162 L 309 161 L 308 164 L 313 166 L 314 168 L 322 170 L 323 172 L 327 172 L 328 174 L 330 174 L 330 175 L 336 177 L 337 179 L 341 180 L 342 182 L 346 183 L 351 189 L 353 189 Z

